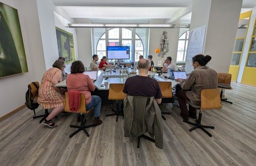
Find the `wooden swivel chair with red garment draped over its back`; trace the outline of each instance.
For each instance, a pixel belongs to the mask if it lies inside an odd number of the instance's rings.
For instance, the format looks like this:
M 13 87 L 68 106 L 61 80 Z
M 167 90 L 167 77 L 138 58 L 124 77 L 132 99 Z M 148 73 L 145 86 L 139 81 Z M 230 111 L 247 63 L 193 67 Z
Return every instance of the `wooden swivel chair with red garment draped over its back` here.
M 68 96 L 68 92 L 65 93 L 65 112 L 72 112 L 69 109 L 69 96 Z M 85 125 L 86 123 L 86 119 L 84 119 L 84 114 L 89 113 L 90 110 L 86 110 L 86 102 L 85 102 L 85 96 L 83 93 L 80 94 L 80 105 L 79 105 L 79 109 L 77 110 L 77 112 L 72 112 L 72 113 L 80 113 L 80 126 L 78 125 L 73 125 L 71 124 L 70 127 L 72 128 L 77 128 L 76 131 L 74 131 L 74 133 L 72 133 L 71 135 L 69 135 L 69 138 L 71 138 L 72 136 L 74 136 L 75 134 L 77 134 L 79 131 L 83 130 L 84 133 L 86 134 L 87 137 L 89 137 L 89 133 L 86 131 L 86 128 L 89 127 L 94 127 L 96 126 L 95 124 L 89 124 L 89 125 Z

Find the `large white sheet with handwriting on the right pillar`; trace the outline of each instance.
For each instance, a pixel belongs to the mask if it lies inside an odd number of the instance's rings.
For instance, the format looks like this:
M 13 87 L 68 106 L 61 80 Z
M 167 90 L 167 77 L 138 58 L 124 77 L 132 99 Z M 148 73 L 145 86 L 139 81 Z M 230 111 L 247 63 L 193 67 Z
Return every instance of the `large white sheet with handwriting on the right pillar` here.
M 187 59 L 192 59 L 196 54 L 203 53 L 205 25 L 190 30 L 188 38 Z

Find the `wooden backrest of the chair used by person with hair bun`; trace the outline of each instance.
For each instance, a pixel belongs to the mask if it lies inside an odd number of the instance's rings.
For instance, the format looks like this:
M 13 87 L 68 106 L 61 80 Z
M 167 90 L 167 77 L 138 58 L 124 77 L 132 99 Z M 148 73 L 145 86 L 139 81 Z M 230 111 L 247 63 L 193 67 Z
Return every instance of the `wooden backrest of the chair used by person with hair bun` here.
M 201 91 L 201 110 L 221 108 L 219 89 L 203 89 Z

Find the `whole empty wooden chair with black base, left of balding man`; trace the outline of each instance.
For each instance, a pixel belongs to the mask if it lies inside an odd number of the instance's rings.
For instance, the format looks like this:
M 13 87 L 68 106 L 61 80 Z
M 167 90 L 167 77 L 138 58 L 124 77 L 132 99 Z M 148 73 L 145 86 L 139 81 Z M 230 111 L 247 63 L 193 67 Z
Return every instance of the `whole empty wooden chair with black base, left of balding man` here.
M 108 116 L 117 116 L 116 121 L 118 121 L 118 115 L 123 116 L 123 112 L 119 111 L 119 105 L 118 105 L 118 100 L 123 100 L 124 95 L 123 95 L 123 87 L 124 84 L 109 84 L 109 91 L 108 91 L 108 100 L 116 100 L 116 110 L 111 109 L 114 113 L 112 114 L 107 114 L 106 117 Z

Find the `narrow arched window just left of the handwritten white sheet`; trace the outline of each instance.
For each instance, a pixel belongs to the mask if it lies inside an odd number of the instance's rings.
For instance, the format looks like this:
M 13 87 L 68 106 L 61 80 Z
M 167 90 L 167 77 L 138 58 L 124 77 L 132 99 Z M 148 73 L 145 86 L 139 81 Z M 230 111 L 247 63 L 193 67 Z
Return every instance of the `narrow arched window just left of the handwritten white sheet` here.
M 183 33 L 179 37 L 177 62 L 185 62 L 186 60 L 186 54 L 188 49 L 188 36 L 189 36 L 189 30 L 187 30 L 185 33 Z

